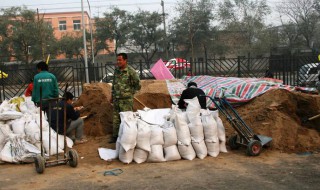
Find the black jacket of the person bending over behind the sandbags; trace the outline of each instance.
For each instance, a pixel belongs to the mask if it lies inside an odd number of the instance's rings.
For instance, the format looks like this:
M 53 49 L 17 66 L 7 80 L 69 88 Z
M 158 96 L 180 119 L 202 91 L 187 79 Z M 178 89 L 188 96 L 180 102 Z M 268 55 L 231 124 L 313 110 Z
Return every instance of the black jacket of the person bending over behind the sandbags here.
M 203 95 L 202 97 L 200 95 Z M 199 103 L 201 105 L 202 109 L 206 109 L 206 97 L 205 97 L 205 93 L 203 92 L 203 90 L 201 90 L 200 88 L 196 88 L 196 87 L 189 87 L 187 89 L 185 89 L 180 97 L 180 100 L 178 102 L 178 106 L 180 109 L 186 109 L 186 102 L 184 101 L 184 99 L 192 99 L 194 97 L 198 97 L 199 99 Z

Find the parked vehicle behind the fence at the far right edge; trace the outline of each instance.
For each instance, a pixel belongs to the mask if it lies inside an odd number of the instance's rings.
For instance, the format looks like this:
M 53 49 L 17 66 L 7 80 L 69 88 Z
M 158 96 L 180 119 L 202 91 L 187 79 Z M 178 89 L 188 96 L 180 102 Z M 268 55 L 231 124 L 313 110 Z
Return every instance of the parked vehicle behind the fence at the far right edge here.
M 303 65 L 299 69 L 297 85 L 303 87 L 314 87 L 318 81 L 319 74 L 320 63 L 309 63 Z

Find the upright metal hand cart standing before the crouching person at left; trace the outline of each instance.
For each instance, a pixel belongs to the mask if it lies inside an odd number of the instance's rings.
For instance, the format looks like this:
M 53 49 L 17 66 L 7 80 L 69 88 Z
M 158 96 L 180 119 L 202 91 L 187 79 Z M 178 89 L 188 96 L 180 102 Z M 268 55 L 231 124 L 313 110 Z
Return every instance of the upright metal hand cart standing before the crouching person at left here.
M 42 89 L 40 87 L 40 143 L 41 143 L 41 154 L 38 154 L 35 159 L 35 166 L 36 166 L 36 171 L 39 174 L 42 174 L 44 172 L 45 167 L 50 167 L 50 166 L 56 166 L 56 165 L 64 165 L 69 163 L 69 165 L 71 167 L 77 167 L 78 165 L 78 160 L 79 160 L 79 156 L 76 150 L 74 149 L 69 149 L 68 153 L 67 153 L 67 139 L 66 139 L 66 128 L 67 128 L 67 121 L 66 121 L 66 104 L 64 104 L 63 106 L 63 114 L 64 114 L 64 148 L 63 148 L 63 156 L 60 154 L 58 154 L 58 149 L 59 149 L 59 141 L 58 141 L 58 135 L 59 135 L 59 109 L 53 109 L 53 106 L 59 107 L 59 101 L 63 100 L 64 98 L 52 98 L 52 99 L 42 99 Z M 47 107 L 43 108 L 43 103 L 44 101 L 47 102 Z M 55 159 L 50 160 L 50 153 L 51 153 L 51 130 L 49 130 L 49 137 L 43 137 L 42 135 L 42 120 L 44 119 L 42 117 L 42 110 L 45 109 L 45 112 L 47 114 L 48 117 L 48 122 L 49 122 L 49 127 L 51 129 L 51 112 L 52 111 L 56 111 L 56 156 Z M 44 153 L 44 147 L 43 147 L 43 138 L 49 138 L 49 153 L 47 153 L 49 155 L 49 159 L 47 160 L 46 157 L 47 155 L 45 155 Z

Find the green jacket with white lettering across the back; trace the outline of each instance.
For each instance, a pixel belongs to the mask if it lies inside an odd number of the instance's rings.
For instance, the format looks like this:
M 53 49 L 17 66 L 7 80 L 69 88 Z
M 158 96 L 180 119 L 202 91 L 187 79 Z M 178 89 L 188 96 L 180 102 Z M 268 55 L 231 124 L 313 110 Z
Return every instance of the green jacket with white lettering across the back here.
M 34 103 L 40 102 L 40 86 L 42 86 L 42 99 L 59 97 L 56 77 L 48 71 L 41 71 L 33 79 L 32 101 Z

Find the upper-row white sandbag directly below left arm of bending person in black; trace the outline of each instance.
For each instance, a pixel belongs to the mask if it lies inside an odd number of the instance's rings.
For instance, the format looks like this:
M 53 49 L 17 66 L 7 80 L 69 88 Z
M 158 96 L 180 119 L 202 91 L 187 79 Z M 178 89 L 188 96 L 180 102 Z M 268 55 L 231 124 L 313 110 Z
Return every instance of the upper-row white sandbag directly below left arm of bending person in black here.
M 191 135 L 187 121 L 186 112 L 176 113 L 175 128 L 177 130 L 178 141 L 188 146 L 191 144 Z

